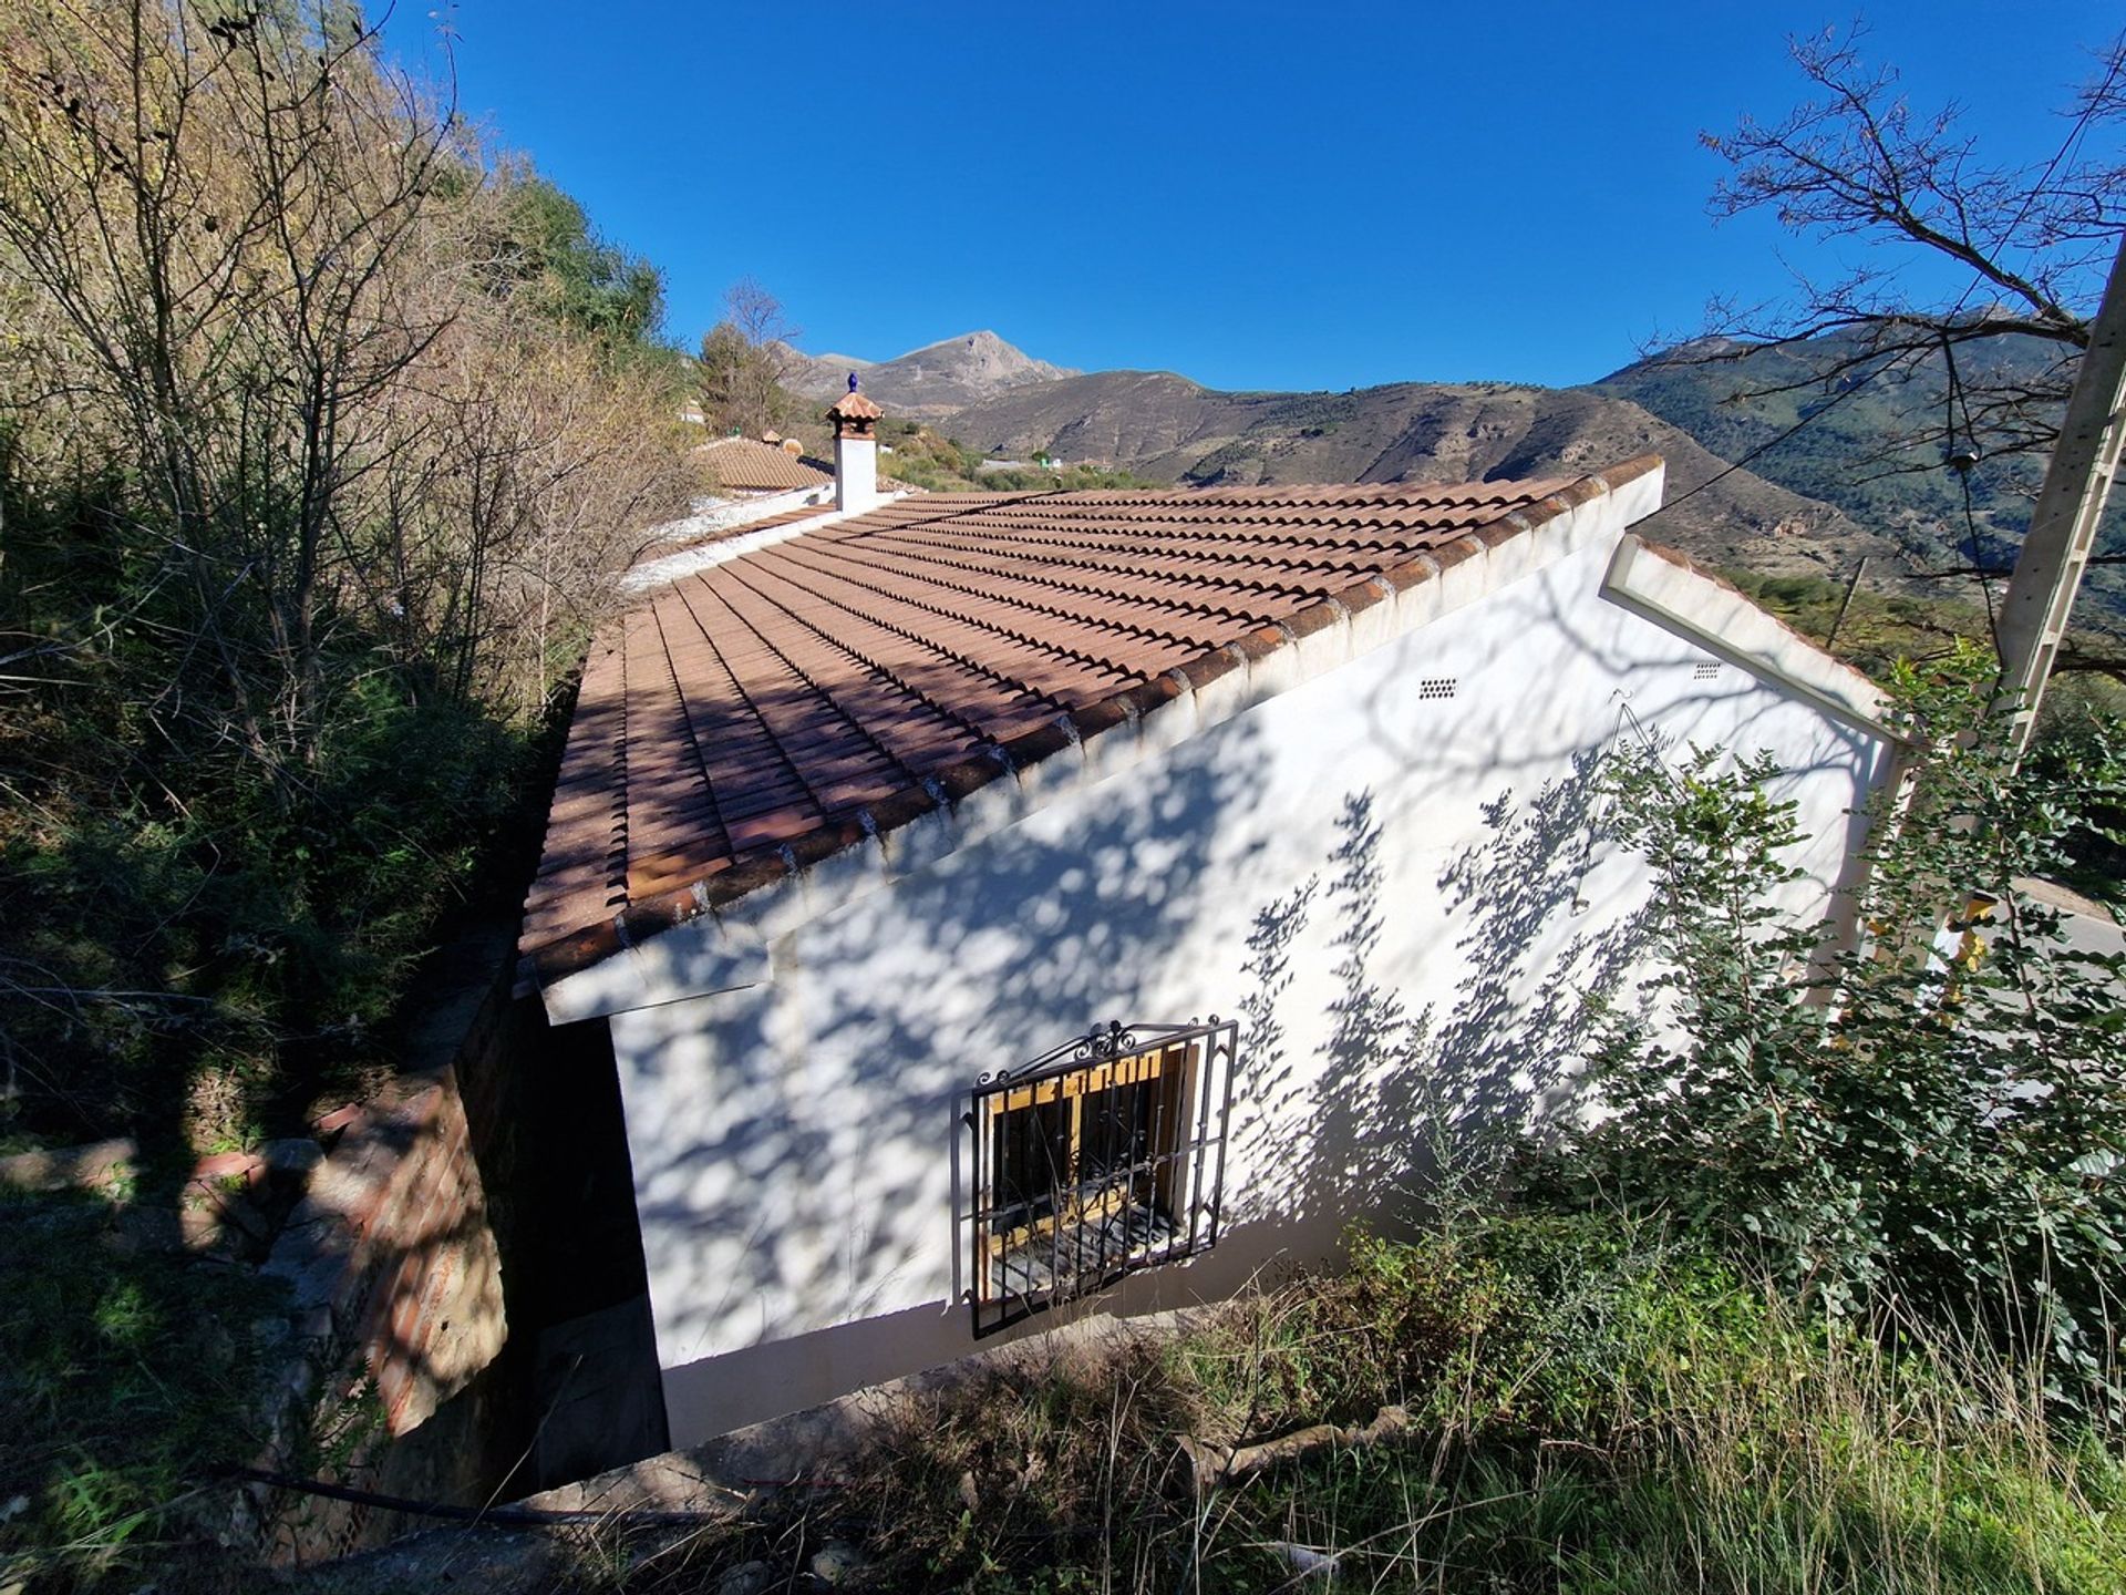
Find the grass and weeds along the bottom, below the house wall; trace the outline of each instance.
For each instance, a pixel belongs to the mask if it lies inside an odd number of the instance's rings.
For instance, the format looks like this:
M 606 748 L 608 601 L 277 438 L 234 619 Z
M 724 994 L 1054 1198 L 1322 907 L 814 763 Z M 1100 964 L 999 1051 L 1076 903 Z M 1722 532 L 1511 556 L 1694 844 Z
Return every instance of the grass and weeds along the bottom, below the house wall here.
M 1361 1238 L 1178 1342 L 929 1399 L 833 1489 L 602 1582 L 714 1589 L 857 1540 L 867 1589 L 2111 1595 L 2126 1470 L 1996 1357 L 1899 1355 L 1614 1219 Z M 1182 1433 L 1412 1421 L 1191 1489 Z M 1301 1567 L 1333 1578 L 1301 1578 Z

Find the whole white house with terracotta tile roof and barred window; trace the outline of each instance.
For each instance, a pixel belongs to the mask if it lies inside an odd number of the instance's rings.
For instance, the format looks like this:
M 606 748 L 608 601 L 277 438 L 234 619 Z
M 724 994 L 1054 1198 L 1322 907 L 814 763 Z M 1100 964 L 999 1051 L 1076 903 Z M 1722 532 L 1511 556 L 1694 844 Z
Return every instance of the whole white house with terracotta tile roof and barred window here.
M 1541 1112 L 1643 959 L 1620 738 L 1771 749 L 1828 906 L 1879 702 L 1660 485 L 855 502 L 642 593 L 523 953 L 610 1025 L 672 1440 L 1227 1295 Z

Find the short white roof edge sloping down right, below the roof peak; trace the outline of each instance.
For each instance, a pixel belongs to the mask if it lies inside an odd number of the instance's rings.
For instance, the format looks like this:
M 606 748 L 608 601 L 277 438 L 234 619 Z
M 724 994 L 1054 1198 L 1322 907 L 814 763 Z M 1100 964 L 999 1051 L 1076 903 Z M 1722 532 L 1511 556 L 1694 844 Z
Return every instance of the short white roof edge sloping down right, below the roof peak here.
M 1601 595 L 1843 725 L 1886 742 L 1905 740 L 1886 723 L 1890 700 L 1873 681 L 1726 583 L 1654 553 L 1631 532 L 1616 544 Z

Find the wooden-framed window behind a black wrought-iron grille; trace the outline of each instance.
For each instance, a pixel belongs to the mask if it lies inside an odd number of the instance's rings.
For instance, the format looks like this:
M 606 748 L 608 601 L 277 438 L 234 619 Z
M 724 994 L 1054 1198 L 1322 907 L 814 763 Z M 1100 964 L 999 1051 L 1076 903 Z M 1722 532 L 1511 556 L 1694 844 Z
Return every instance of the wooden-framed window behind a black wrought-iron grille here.
M 978 1336 L 1216 1244 L 1237 1044 L 1216 1017 L 1108 1025 L 976 1082 Z

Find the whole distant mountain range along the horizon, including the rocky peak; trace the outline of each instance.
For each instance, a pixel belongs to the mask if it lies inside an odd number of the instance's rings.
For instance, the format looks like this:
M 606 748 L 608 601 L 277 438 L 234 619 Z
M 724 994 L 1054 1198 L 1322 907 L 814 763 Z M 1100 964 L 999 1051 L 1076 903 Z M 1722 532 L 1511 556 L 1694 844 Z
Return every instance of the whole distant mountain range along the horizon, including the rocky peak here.
M 1935 357 L 1858 385 L 1809 381 L 1850 351 L 1839 336 L 1748 353 L 1705 342 L 1573 389 L 1222 393 L 1174 372 L 1063 372 L 976 332 L 880 364 L 799 357 L 793 387 L 829 400 L 857 370 L 891 415 L 929 421 L 976 453 L 1050 451 L 1169 483 L 1467 481 L 1652 451 L 1669 461 L 1673 508 L 1650 532 L 1692 555 L 1816 576 L 1845 576 L 1867 555 L 1869 585 L 1941 591 L 1918 572 L 1971 564 L 1962 483 L 1941 464 L 1945 366 Z M 2030 381 L 2058 355 L 2032 338 L 1979 338 L 1958 347 L 1958 368 L 1967 383 Z M 1792 391 L 1752 398 L 1767 387 Z M 1748 470 L 1726 472 L 1786 432 Z M 1996 455 L 1971 472 L 1988 564 L 2013 561 L 2041 474 L 2035 455 Z M 1701 483 L 1711 485 L 1692 493 Z M 2113 504 L 2103 547 L 2126 549 L 2126 502 Z M 2088 593 L 2090 608 L 2126 617 L 2126 568 L 2092 570 Z

